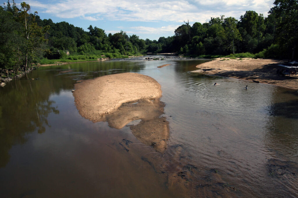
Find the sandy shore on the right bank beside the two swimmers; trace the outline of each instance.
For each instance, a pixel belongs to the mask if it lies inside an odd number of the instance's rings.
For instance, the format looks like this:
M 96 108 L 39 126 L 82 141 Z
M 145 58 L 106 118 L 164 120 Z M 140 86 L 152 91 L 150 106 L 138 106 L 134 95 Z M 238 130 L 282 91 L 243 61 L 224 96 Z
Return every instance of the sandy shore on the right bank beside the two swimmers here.
M 225 58 L 229 59 L 229 58 Z M 284 61 L 275 59 L 252 59 L 243 60 L 216 58 L 210 62 L 197 65 L 199 68 L 193 72 L 204 73 L 207 75 L 218 75 L 244 80 L 254 80 L 260 83 L 274 84 L 280 87 L 298 89 L 298 75 L 278 76 L 277 65 Z

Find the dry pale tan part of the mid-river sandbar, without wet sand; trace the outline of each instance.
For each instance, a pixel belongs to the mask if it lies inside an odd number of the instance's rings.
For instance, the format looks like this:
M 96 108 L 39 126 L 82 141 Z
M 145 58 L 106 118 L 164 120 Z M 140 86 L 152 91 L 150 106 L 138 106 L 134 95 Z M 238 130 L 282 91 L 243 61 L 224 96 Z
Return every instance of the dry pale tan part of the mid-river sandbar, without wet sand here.
M 80 114 L 94 122 L 122 103 L 161 97 L 161 86 L 149 76 L 136 73 L 105 75 L 75 84 L 75 103 Z

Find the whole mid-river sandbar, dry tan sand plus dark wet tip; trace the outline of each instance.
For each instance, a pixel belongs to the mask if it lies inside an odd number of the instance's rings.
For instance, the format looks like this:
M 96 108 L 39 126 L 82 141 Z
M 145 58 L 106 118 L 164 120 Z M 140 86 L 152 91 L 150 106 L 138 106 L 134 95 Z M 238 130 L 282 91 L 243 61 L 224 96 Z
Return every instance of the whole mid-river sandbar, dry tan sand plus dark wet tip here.
M 82 117 L 93 122 L 107 121 L 121 129 L 131 121 L 133 134 L 156 151 L 164 151 L 169 127 L 161 86 L 149 76 L 136 73 L 105 75 L 75 84 L 75 103 Z

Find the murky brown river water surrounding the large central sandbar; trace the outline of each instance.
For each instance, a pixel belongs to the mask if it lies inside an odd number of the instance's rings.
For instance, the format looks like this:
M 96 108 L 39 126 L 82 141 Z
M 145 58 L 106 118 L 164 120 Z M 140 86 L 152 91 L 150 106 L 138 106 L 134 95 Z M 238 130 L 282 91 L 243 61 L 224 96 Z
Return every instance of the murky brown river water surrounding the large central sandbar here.
M 0 197 L 297 197 L 297 92 L 189 72 L 202 62 L 67 64 L 7 83 L 0 88 Z M 171 65 L 157 68 L 163 64 Z M 121 72 L 161 84 L 165 153 L 128 126 L 79 115 L 76 81 Z M 123 139 L 132 142 L 128 152 Z

